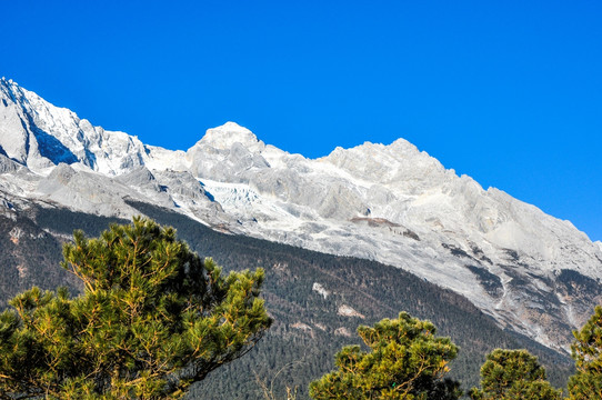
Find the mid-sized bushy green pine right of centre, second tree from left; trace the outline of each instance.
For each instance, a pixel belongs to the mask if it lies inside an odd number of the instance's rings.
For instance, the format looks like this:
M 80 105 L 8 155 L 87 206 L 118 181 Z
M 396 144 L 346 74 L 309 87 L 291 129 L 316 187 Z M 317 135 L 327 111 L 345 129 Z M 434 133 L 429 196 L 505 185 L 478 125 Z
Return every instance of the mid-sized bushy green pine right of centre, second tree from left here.
M 370 351 L 344 347 L 335 356 L 338 370 L 310 384 L 313 399 L 447 400 L 461 396 L 459 383 L 445 379 L 458 348 L 437 337 L 430 321 L 401 312 L 358 333 Z

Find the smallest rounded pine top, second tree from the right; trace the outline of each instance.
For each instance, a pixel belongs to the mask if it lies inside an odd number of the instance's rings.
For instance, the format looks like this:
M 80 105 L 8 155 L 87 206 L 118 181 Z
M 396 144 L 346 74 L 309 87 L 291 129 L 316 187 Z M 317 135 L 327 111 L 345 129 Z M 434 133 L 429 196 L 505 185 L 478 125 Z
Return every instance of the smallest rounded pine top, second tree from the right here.
M 560 400 L 545 369 L 526 350 L 495 349 L 481 367 L 481 389 L 472 388 L 473 400 Z

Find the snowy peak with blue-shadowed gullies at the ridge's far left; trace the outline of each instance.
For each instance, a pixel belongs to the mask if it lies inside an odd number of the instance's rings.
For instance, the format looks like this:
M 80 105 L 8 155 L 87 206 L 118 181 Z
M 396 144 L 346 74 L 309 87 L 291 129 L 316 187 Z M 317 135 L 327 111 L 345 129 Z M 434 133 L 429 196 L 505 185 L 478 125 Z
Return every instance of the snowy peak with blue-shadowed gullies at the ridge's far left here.
M 117 176 L 144 163 L 138 138 L 93 127 L 12 81 L 0 88 L 0 148 L 30 170 L 46 174 L 64 162 Z

